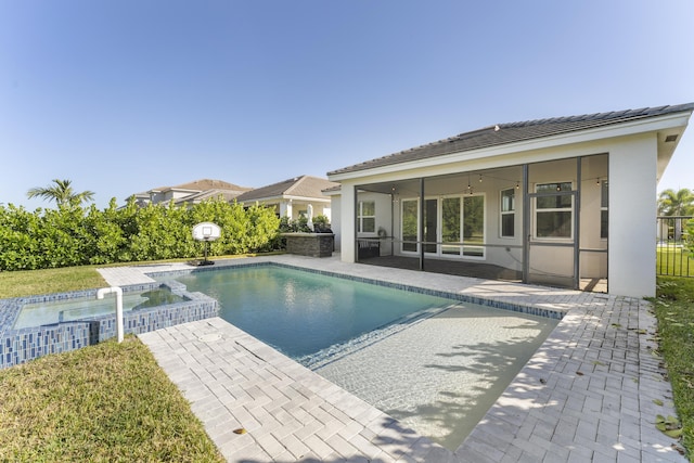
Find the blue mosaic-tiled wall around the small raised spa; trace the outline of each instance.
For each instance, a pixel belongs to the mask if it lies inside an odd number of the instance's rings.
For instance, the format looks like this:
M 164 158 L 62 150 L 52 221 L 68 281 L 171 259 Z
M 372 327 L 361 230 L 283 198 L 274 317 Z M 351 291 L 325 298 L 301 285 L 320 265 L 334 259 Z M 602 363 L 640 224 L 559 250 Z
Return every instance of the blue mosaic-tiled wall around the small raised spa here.
M 124 293 L 145 291 L 162 286 L 124 286 Z M 203 320 L 219 314 L 216 299 L 201 293 L 188 293 L 184 286 L 171 291 L 188 300 L 167 306 L 124 312 L 123 324 L 126 334 L 150 331 Z M 80 321 L 62 322 L 43 326 L 12 330 L 22 306 L 40 301 L 68 300 L 78 297 L 97 298 L 97 291 L 63 293 L 30 298 L 0 300 L 0 369 L 25 363 L 49 353 L 67 352 L 93 345 L 116 336 L 115 303 L 114 313 L 88 318 Z

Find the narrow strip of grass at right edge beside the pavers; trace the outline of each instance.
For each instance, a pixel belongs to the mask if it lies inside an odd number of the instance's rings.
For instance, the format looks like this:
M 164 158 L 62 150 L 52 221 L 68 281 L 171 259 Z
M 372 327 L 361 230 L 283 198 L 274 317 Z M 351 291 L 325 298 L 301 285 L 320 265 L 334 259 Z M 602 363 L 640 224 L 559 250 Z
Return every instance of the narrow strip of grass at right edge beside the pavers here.
M 694 279 L 659 276 L 654 300 L 658 343 L 682 424 L 682 443 L 694 452 Z

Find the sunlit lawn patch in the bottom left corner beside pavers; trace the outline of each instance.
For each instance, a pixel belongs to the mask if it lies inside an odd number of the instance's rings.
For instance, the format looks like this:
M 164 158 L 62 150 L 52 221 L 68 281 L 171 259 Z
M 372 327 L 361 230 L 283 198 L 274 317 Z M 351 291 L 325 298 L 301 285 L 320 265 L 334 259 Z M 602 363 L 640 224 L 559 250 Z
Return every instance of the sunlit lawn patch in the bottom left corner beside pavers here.
M 0 371 L 0 461 L 224 461 L 133 336 Z

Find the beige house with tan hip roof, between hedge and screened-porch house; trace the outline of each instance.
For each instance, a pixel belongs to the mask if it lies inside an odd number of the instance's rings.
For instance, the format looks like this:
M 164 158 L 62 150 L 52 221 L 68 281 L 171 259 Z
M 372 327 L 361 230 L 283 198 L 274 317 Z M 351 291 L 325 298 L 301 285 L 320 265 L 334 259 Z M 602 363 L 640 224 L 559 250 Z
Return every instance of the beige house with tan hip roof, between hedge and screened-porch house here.
M 338 184 L 318 177 L 294 177 L 245 192 L 236 197 L 236 201 L 244 206 L 258 203 L 274 207 L 278 217 L 288 217 L 292 220 L 307 216 L 310 205 L 313 217 L 323 215 L 330 220 L 331 200 L 322 191 L 333 187 Z

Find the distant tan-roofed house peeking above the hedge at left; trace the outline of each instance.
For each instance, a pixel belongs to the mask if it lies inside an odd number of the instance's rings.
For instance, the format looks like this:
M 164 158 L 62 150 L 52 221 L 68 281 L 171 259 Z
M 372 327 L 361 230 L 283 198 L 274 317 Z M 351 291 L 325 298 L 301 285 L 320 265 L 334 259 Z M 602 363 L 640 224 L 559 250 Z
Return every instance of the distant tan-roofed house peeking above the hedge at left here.
M 140 205 L 146 204 L 168 204 L 174 201 L 174 204 L 181 206 L 184 203 L 188 205 L 197 204 L 203 200 L 223 197 L 226 201 L 231 202 L 239 195 L 252 190 L 246 187 L 239 187 L 233 183 L 224 182 L 221 180 L 195 180 L 190 183 L 183 183 L 176 187 L 162 187 L 149 190 L 144 193 L 136 194 L 136 201 Z

